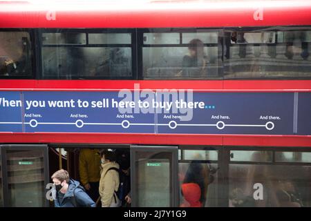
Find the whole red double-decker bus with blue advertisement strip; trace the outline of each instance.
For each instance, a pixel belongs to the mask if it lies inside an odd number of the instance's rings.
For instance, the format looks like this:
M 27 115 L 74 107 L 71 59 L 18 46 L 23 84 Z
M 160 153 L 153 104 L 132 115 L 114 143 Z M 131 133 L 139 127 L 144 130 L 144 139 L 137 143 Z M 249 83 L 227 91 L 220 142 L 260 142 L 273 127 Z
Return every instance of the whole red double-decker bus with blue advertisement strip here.
M 107 148 L 132 206 L 311 206 L 310 51 L 310 1 L 0 1 L 0 206 Z

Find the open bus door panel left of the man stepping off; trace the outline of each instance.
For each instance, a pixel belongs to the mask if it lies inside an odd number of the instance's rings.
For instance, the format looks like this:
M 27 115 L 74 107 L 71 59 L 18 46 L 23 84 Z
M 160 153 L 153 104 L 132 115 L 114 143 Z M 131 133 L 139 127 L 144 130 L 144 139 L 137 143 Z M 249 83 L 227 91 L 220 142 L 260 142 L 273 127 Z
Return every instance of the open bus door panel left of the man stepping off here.
M 48 146 L 0 145 L 0 206 L 48 206 Z

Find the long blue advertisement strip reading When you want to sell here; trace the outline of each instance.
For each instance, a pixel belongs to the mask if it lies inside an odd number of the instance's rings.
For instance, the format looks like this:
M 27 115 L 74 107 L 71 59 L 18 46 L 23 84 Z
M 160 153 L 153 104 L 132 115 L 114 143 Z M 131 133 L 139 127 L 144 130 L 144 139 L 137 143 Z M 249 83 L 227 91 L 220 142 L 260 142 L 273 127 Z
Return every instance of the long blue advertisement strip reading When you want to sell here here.
M 0 132 L 311 135 L 310 113 L 311 93 L 0 93 Z

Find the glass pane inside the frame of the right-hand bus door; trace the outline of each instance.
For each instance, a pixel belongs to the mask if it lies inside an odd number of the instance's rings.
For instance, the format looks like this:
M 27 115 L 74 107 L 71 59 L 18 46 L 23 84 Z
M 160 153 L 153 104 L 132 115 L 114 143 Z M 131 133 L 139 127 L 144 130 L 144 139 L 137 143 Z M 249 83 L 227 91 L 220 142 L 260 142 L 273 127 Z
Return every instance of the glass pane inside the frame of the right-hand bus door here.
M 136 206 L 171 206 L 172 153 L 154 151 L 135 154 Z

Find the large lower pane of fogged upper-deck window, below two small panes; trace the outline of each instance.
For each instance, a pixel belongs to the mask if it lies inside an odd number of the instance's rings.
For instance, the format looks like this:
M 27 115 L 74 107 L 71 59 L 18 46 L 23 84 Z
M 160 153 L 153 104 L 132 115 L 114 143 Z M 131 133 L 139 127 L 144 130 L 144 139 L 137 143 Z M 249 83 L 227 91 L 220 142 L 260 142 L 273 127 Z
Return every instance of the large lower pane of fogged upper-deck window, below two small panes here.
M 131 48 L 43 48 L 43 77 L 131 77 Z

